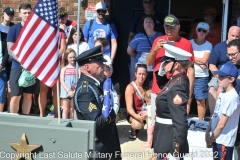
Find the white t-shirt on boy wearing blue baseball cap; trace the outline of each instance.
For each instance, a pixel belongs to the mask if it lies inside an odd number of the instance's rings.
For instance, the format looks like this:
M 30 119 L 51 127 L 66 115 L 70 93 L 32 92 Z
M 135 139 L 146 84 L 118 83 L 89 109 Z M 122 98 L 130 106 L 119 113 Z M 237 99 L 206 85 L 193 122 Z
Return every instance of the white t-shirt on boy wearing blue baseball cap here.
M 220 93 L 218 97 L 212 117 L 212 133 L 217 127 L 222 114 L 228 116 L 228 121 L 222 133 L 216 138 L 216 143 L 223 144 L 227 147 L 233 147 L 237 136 L 240 114 L 239 96 L 234 88 L 228 92 Z

